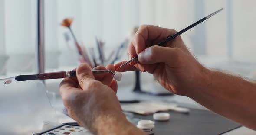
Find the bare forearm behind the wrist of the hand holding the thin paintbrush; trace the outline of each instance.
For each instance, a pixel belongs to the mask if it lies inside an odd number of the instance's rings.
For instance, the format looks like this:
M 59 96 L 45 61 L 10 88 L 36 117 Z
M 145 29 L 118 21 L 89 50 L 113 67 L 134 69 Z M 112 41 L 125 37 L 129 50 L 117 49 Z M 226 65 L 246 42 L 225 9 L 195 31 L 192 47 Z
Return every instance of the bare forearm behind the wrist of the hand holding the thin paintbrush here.
M 256 130 L 256 84 L 220 71 L 206 70 L 189 96 L 226 118 Z

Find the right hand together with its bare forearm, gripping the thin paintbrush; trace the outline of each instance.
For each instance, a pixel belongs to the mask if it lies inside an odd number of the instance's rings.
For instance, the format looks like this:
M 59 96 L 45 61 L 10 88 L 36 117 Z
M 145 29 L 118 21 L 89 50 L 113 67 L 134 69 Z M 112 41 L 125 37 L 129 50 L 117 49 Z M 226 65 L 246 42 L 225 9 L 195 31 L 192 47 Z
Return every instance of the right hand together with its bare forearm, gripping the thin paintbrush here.
M 256 130 L 256 108 L 252 107 L 256 102 L 256 84 L 203 67 L 190 54 L 180 36 L 164 47 L 156 45 L 174 33 L 173 29 L 141 26 L 127 50 L 128 57 L 138 55 L 138 61 L 118 71 L 148 71 L 167 90 L 189 96 L 213 112 Z

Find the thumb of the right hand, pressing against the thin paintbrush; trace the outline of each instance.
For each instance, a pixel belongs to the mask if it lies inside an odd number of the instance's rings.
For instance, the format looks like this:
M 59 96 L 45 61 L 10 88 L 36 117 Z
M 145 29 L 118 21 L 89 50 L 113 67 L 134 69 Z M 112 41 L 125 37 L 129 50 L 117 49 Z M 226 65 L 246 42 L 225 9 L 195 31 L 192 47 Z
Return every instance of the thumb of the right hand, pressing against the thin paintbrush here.
M 138 55 L 138 61 L 141 64 L 167 63 L 176 64 L 179 62 L 183 51 L 180 48 L 162 47 L 154 45 L 141 51 Z

